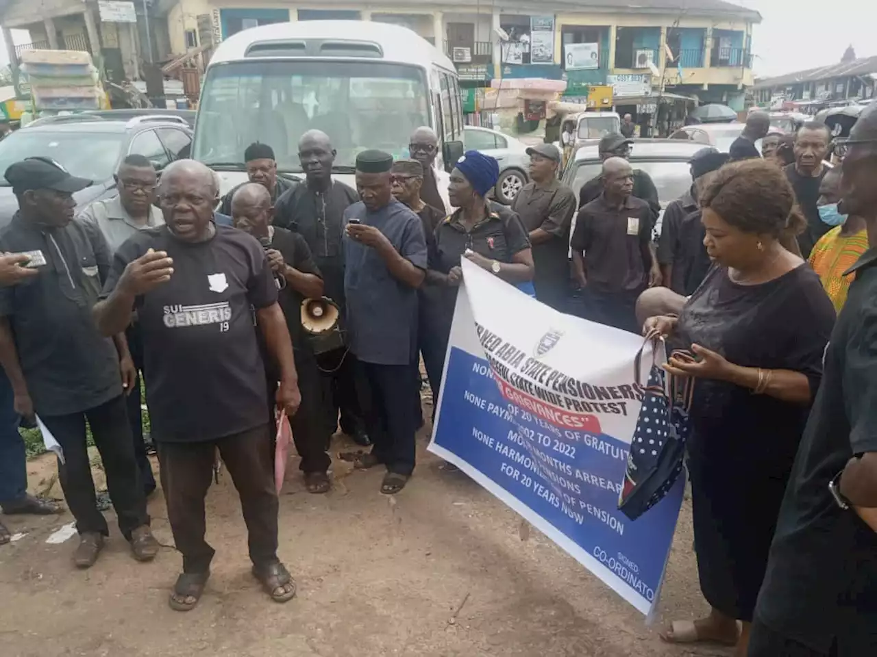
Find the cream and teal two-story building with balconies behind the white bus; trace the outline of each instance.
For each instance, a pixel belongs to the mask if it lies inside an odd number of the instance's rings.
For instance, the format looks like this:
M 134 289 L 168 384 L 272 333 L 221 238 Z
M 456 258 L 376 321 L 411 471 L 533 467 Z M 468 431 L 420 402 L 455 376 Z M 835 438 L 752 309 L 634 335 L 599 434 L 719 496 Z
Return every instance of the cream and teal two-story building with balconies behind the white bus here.
M 301 20 L 373 20 L 405 25 L 445 48 L 466 86 L 492 80 L 567 81 L 567 95 L 613 84 L 617 95 L 695 96 L 743 109 L 752 84 L 752 25 L 758 12 L 723 0 L 156 0 L 173 53 L 210 49 L 256 25 Z

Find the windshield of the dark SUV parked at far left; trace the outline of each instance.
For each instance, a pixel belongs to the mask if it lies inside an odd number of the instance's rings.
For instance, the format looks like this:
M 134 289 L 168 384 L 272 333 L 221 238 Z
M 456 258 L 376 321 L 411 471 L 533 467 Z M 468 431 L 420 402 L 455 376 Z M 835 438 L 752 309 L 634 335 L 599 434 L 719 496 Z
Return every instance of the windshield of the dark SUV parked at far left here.
M 46 131 L 22 128 L 0 141 L 0 171 L 25 158 L 52 158 L 68 172 L 88 180 L 109 180 L 125 142 L 123 132 Z M 8 186 L 5 179 L 0 185 Z

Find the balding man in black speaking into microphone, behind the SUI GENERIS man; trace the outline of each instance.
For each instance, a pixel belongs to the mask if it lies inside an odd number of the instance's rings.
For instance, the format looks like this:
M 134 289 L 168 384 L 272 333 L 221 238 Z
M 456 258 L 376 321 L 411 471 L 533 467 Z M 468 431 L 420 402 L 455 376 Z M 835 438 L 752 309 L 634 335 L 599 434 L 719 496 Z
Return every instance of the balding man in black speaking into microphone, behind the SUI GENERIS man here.
M 323 278 L 310 256 L 308 243 L 298 233 L 271 225 L 274 207 L 271 195 L 265 187 L 250 184 L 239 187 L 232 199 L 234 227 L 259 240 L 266 250 L 268 265 L 274 272 L 279 289 L 278 302 L 286 316 L 289 336 L 296 354 L 298 387 L 302 392 L 302 404 L 298 413 L 290 418 L 292 437 L 296 442 L 298 456 L 302 457 L 299 469 L 304 473 L 304 483 L 309 492 L 329 491 L 326 474 L 332 459 L 326 453 L 331 433 L 321 416 L 320 373 L 317 359 L 302 329 L 302 301 L 320 299 L 323 296 Z M 264 343 L 260 346 L 263 349 Z M 277 387 L 277 368 L 266 361 L 268 391 Z M 270 396 L 269 396 L 270 397 Z M 275 404 L 271 399 L 270 416 L 274 417 Z

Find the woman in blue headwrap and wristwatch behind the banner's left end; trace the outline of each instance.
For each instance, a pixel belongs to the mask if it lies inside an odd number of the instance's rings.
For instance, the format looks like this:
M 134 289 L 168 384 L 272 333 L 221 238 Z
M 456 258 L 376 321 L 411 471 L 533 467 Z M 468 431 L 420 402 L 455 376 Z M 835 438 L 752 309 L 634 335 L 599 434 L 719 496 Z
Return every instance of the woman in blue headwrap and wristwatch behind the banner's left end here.
M 437 306 L 432 316 L 437 320 L 443 354 L 451 334 L 457 287 L 463 280 L 460 258 L 533 292 L 533 256 L 524 224 L 509 208 L 485 199 L 498 178 L 496 159 L 477 151 L 467 151 L 451 172 L 448 195 L 458 209 L 436 228 L 424 282 Z

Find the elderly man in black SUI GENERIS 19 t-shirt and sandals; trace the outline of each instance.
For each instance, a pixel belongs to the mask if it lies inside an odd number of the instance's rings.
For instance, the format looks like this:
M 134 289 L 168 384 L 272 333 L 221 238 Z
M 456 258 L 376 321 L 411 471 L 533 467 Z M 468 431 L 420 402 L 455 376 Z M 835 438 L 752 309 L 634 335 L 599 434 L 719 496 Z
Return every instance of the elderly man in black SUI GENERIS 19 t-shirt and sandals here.
M 161 176 L 165 226 L 141 230 L 116 251 L 104 300 L 104 335 L 125 329 L 136 307 L 146 387 L 168 521 L 182 553 L 169 604 L 189 611 L 210 576 L 204 498 L 218 449 L 238 489 L 250 559 L 268 595 L 296 592 L 277 559 L 277 491 L 259 330 L 280 379 L 277 406 L 301 401 L 289 329 L 259 242 L 213 221 L 216 183 L 206 166 L 177 160 Z M 256 327 L 253 327 L 253 313 Z

